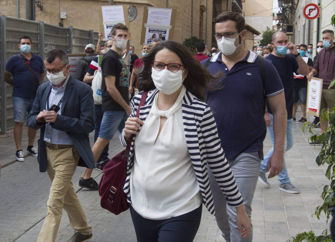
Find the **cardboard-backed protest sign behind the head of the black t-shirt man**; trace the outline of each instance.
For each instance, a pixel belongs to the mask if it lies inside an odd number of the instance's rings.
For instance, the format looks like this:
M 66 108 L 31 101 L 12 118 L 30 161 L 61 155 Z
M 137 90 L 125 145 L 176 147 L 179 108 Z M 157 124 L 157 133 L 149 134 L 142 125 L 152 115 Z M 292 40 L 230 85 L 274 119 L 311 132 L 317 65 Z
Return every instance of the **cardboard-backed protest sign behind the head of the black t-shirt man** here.
M 98 12 L 103 40 L 106 41 L 112 38 L 111 30 L 117 23 L 123 23 L 129 28 L 127 5 L 99 6 Z

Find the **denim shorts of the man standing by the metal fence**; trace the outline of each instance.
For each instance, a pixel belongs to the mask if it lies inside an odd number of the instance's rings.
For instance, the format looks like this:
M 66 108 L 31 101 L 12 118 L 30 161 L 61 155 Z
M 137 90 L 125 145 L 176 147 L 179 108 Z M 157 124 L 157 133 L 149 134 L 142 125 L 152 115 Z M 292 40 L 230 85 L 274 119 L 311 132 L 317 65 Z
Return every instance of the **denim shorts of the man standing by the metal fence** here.
M 13 96 L 14 122 L 24 123 L 25 117 L 32 109 L 35 98 L 22 98 Z

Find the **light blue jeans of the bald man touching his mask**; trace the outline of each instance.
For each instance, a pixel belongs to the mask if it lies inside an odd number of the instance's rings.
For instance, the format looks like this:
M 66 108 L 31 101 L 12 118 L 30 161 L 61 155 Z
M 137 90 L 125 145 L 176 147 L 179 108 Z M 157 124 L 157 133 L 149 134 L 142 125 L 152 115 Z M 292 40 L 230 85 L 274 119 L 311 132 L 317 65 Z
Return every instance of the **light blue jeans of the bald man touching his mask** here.
M 269 132 L 269 136 L 272 142 L 272 148 L 269 150 L 268 154 L 264 156 L 264 160 L 262 160 L 261 164 L 261 172 L 265 173 L 266 167 L 269 163 L 269 159 L 272 156 L 273 153 L 273 146 L 274 146 L 274 133 L 273 133 L 273 115 L 270 114 L 271 119 L 271 125 L 267 127 L 267 130 Z M 293 146 L 293 127 L 294 127 L 294 121 L 293 118 L 287 119 L 287 128 L 286 128 L 286 137 L 285 137 L 285 146 L 284 146 L 284 152 L 292 148 Z M 290 178 L 287 174 L 287 169 L 285 165 L 285 158 L 284 158 L 284 167 L 283 171 L 278 174 L 278 180 L 280 184 L 291 182 Z

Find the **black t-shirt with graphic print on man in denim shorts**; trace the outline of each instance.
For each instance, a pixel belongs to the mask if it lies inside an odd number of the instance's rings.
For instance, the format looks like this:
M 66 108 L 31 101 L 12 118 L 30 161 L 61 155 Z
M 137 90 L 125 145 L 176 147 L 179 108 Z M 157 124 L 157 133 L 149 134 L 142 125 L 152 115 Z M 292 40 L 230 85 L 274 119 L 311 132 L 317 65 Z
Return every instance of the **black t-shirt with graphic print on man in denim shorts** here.
M 127 103 L 128 98 L 128 75 L 127 75 L 127 65 L 124 63 L 121 56 L 113 50 L 108 51 L 101 62 L 101 68 L 103 72 L 103 81 L 101 85 L 102 91 L 102 110 L 103 111 L 124 111 L 124 109 L 114 101 L 114 99 L 109 95 L 106 88 L 105 76 L 112 75 L 115 76 L 115 86 L 120 92 L 123 100 Z

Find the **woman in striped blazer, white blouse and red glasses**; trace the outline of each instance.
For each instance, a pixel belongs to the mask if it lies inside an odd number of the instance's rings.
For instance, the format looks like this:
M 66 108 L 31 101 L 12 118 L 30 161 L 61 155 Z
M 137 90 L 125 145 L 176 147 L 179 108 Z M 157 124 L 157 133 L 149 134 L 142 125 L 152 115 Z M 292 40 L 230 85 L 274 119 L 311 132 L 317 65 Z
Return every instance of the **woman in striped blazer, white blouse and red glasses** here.
M 149 92 L 140 110 L 143 92 L 134 96 L 132 113 L 120 134 L 124 146 L 135 134 L 124 192 L 137 241 L 193 241 L 202 203 L 214 214 L 208 168 L 226 202 L 236 207 L 240 234 L 247 237 L 251 222 L 213 115 L 203 102 L 208 83 L 215 78 L 176 41 L 156 45 L 143 63 L 139 89 Z

